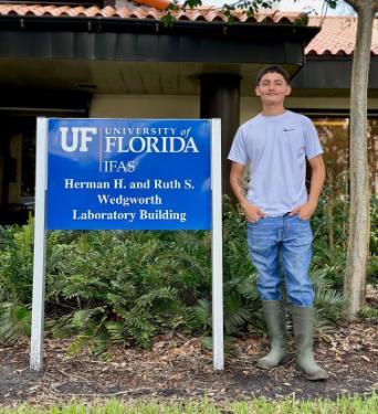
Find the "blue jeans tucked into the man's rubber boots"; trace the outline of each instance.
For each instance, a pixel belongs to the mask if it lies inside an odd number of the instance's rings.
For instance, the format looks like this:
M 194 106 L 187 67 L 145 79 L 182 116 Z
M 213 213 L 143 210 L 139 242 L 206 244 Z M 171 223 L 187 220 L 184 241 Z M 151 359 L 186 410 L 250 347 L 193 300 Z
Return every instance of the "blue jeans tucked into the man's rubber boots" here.
M 309 221 L 301 220 L 297 214 L 260 219 L 248 223 L 246 240 L 258 270 L 261 299 L 282 299 L 281 256 L 288 300 L 294 306 L 313 306 L 314 291 L 308 277 L 313 241 Z

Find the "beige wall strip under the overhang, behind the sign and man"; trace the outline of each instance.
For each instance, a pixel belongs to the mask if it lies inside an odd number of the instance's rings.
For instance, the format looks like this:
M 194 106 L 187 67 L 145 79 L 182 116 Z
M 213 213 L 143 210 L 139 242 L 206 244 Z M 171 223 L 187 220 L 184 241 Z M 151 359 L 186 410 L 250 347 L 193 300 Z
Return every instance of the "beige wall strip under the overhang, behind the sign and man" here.
M 290 108 L 348 109 L 349 98 L 340 97 L 288 97 Z M 378 99 L 368 100 L 369 109 L 378 109 Z M 242 97 L 240 123 L 244 123 L 260 112 L 256 97 Z M 199 96 L 174 95 L 95 95 L 90 117 L 119 118 L 198 118 Z

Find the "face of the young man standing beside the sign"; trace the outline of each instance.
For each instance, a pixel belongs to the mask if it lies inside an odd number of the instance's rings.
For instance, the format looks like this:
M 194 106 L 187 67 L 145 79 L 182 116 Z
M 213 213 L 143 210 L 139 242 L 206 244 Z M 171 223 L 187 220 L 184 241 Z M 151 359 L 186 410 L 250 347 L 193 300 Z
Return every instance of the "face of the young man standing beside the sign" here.
M 255 88 L 264 105 L 282 105 L 291 92 L 290 85 L 280 73 L 265 73 Z

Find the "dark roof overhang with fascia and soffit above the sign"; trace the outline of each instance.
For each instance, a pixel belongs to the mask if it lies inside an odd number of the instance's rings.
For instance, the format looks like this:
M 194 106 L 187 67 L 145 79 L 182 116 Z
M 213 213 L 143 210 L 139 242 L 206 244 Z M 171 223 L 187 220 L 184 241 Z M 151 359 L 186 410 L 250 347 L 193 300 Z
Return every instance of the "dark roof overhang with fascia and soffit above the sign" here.
M 199 75 L 231 73 L 250 94 L 256 71 L 292 75 L 319 28 L 153 19 L 0 17 L 0 86 L 92 93 L 199 93 Z

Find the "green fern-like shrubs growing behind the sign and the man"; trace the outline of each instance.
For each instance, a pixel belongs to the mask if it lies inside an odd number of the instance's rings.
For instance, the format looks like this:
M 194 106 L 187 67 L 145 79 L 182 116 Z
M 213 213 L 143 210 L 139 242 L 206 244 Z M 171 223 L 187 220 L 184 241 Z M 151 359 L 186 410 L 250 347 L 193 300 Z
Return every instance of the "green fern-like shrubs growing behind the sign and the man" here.
M 377 211 L 376 204 L 374 209 Z M 319 329 L 337 322 L 345 305 L 340 290 L 346 211 L 342 197 L 333 201 L 334 236 L 327 229 L 329 209 L 325 202 L 314 216 L 312 276 Z M 32 221 L 25 226 L 0 227 L 0 341 L 28 332 L 32 237 Z M 244 217 L 227 198 L 223 277 L 227 335 L 264 330 Z M 109 343 L 148 348 L 155 335 L 175 330 L 209 336 L 211 234 L 49 232 L 45 300 L 48 331 L 55 337 L 76 336 L 72 351 L 86 346 L 103 353 Z

